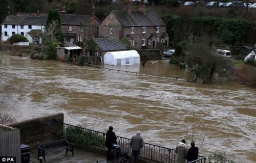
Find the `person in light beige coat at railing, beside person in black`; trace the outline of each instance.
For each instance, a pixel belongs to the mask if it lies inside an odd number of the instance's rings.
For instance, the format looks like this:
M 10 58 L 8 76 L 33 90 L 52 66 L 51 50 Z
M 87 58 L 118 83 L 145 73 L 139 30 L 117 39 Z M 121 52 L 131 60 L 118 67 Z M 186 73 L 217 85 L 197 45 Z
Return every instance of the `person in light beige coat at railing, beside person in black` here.
M 176 163 L 186 163 L 185 161 L 186 161 L 187 147 L 185 144 L 186 144 L 186 141 L 182 139 L 180 144 L 175 149 Z

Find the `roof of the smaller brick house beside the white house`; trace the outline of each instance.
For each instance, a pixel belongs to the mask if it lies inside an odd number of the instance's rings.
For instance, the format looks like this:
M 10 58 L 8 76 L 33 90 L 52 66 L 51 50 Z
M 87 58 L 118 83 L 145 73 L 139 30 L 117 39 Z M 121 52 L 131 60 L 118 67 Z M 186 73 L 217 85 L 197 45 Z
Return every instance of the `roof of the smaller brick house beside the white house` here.
M 61 24 L 67 25 L 80 25 L 82 22 L 84 25 L 90 25 L 91 16 L 90 15 L 74 15 L 74 14 L 60 14 Z

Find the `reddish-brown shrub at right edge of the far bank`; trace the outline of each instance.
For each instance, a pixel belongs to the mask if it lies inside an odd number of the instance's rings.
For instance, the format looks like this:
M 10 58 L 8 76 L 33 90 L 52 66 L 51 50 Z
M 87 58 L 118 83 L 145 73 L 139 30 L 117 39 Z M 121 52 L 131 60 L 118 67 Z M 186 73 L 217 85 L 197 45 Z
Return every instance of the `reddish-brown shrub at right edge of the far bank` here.
M 256 87 L 256 67 L 243 64 L 234 72 L 234 79 L 247 86 Z

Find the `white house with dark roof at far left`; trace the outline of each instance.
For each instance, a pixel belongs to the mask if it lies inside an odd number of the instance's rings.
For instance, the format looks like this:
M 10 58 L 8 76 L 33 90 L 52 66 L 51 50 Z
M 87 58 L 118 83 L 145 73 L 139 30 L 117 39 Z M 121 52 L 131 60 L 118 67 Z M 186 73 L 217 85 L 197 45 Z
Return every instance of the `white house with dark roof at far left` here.
M 31 30 L 45 31 L 47 14 L 17 13 L 9 15 L 2 23 L 2 41 L 7 41 L 13 34 L 26 36 Z

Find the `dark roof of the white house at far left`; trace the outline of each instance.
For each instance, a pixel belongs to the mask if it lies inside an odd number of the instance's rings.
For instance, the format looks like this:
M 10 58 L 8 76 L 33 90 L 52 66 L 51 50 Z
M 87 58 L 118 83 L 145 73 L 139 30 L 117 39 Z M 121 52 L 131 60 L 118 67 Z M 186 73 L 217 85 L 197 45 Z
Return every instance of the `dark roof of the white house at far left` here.
M 2 24 L 12 25 L 45 25 L 47 14 L 43 13 L 17 13 L 8 15 Z

